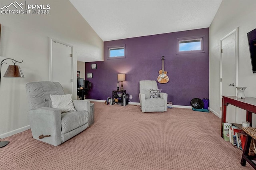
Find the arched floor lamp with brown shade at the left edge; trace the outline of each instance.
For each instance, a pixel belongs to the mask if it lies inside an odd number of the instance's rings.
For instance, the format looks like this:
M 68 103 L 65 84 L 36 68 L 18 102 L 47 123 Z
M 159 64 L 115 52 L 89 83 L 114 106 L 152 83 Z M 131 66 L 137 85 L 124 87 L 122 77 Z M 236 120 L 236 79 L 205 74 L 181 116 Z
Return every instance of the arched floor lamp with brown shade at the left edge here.
M 6 59 L 11 59 L 11 58 L 6 58 Z M 5 63 L 3 62 L 4 60 L 6 59 L 3 59 L 0 63 L 0 87 L 1 87 L 1 69 L 2 69 L 2 64 Z M 24 77 L 21 69 L 20 69 L 20 66 L 19 65 L 15 65 L 17 62 L 18 63 L 22 63 L 23 61 L 16 61 L 15 59 L 11 59 L 13 60 L 12 63 L 14 63 L 14 65 L 9 65 L 4 76 L 3 77 Z M 7 63 L 6 63 L 7 64 Z M 9 143 L 9 141 L 0 141 L 0 148 L 6 146 L 7 144 Z

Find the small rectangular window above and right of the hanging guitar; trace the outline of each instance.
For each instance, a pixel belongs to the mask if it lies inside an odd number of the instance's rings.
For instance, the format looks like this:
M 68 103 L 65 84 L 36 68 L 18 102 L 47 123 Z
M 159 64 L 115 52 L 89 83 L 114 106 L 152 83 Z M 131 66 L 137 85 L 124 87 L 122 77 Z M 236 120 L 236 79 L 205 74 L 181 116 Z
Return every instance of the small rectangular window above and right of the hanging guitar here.
M 182 53 L 203 53 L 203 37 L 199 38 L 178 38 L 177 54 Z

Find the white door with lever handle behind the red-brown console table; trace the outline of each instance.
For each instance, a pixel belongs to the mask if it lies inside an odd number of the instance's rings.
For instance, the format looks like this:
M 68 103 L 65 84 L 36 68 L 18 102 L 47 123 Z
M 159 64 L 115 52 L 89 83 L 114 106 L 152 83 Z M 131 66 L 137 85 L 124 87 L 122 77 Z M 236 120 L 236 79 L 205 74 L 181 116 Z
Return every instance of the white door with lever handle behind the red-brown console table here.
M 221 95 L 236 96 L 237 29 L 221 39 Z M 228 105 L 226 121 L 236 123 L 236 107 Z

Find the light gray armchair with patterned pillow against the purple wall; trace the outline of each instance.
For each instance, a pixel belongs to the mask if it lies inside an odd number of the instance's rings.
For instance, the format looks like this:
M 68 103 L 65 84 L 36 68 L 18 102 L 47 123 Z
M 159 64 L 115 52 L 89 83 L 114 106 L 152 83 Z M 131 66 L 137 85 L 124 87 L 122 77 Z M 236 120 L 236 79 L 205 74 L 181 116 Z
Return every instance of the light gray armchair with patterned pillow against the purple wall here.
M 150 90 L 158 89 L 157 83 L 154 80 L 140 81 L 140 109 L 142 112 L 164 112 L 167 111 L 167 93 L 160 93 L 160 98 L 150 98 Z M 156 96 L 155 96 L 156 97 Z

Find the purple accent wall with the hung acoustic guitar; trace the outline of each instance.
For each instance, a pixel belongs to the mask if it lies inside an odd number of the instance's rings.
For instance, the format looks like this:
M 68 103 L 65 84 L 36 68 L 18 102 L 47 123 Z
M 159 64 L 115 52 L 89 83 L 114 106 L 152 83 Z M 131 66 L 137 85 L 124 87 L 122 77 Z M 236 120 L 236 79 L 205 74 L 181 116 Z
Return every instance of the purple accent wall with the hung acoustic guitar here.
M 192 36 L 204 36 L 205 53 L 176 54 L 176 38 Z M 108 46 L 120 44 L 126 44 L 126 58 L 107 59 Z M 168 101 L 190 106 L 193 98 L 209 98 L 209 28 L 104 42 L 104 61 L 86 63 L 86 74 L 93 74 L 90 79 L 86 76 L 92 82 L 86 98 L 112 97 L 112 90 L 117 88 L 117 74 L 125 73 L 124 89 L 132 95 L 131 102 L 139 102 L 139 81 L 157 81 L 162 55 L 169 82 L 158 83 L 158 88 L 168 93 Z M 91 69 L 92 63 L 97 63 L 97 69 Z

